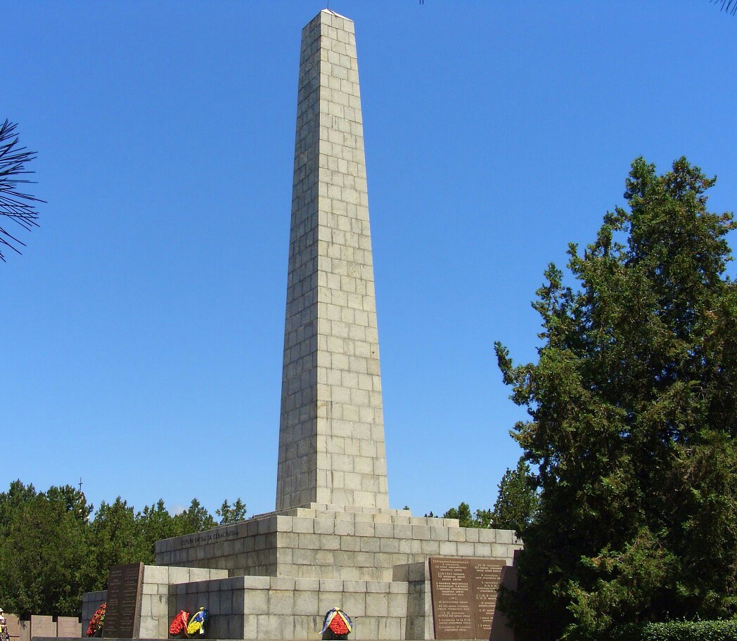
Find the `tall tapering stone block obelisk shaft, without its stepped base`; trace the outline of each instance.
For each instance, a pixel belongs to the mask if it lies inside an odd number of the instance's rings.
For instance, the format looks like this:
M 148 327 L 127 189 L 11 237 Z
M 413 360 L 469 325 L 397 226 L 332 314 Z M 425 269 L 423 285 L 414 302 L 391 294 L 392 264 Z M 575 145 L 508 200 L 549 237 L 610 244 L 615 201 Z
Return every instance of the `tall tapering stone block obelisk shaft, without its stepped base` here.
M 353 22 L 302 31 L 276 509 L 388 508 Z

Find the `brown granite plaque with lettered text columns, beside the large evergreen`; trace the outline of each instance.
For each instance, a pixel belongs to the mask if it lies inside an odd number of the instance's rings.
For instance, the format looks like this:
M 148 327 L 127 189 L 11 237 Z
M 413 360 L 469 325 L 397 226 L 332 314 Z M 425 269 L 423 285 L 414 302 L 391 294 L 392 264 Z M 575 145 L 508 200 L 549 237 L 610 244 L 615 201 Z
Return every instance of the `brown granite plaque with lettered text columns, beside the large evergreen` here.
M 435 638 L 489 639 L 504 561 L 430 557 Z

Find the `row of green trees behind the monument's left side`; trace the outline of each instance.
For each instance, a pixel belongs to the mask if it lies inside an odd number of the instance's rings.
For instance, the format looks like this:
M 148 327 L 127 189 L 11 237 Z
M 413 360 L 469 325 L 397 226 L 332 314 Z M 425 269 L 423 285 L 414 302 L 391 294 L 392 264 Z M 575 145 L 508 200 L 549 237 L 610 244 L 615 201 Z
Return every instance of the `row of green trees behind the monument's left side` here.
M 20 480 L 0 492 L 0 603 L 7 612 L 79 616 L 83 592 L 107 587 L 112 565 L 153 564 L 156 542 L 240 521 L 237 499 L 215 511 L 197 499 L 172 514 L 164 501 L 136 511 L 121 497 L 93 506 L 71 486 L 38 492 Z

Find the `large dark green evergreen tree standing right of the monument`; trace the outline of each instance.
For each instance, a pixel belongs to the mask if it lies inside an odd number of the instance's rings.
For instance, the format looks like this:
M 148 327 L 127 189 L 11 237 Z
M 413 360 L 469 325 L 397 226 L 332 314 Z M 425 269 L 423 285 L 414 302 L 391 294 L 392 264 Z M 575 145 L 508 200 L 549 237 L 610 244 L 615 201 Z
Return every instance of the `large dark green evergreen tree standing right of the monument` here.
M 607 639 L 628 623 L 737 614 L 737 290 L 731 214 L 685 158 L 638 158 L 628 209 L 571 245 L 538 290 L 537 364 L 497 343 L 514 427 L 539 466 L 517 594 L 517 639 Z

